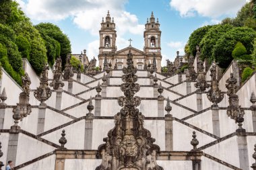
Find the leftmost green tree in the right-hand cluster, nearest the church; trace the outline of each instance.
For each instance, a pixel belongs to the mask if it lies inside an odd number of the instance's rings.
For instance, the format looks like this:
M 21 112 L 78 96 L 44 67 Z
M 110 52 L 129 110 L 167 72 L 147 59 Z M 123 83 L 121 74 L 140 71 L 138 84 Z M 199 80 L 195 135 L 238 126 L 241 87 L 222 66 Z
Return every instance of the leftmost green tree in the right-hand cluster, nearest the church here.
M 212 28 L 212 26 L 203 26 L 201 28 L 197 28 L 197 30 L 195 30 L 191 36 L 189 36 L 189 50 L 191 52 L 191 54 L 193 54 L 193 56 L 195 56 L 197 50 L 196 50 L 196 46 L 200 44 L 201 40 L 203 39 L 203 37 L 205 36 L 205 34 L 208 32 L 208 30 L 210 30 L 210 28 Z M 202 46 L 200 46 L 201 48 L 203 48 Z

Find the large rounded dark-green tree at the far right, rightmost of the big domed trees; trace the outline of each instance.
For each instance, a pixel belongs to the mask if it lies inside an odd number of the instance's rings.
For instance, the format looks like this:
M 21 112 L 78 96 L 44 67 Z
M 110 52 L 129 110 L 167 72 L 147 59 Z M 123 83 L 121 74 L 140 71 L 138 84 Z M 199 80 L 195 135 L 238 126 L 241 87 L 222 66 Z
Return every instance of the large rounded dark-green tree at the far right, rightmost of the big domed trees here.
M 256 33 L 253 29 L 247 27 L 232 28 L 221 36 L 214 46 L 212 57 L 219 62 L 220 67 L 226 68 L 232 60 L 232 51 L 237 42 L 243 43 L 247 49 L 247 54 L 253 51 L 253 40 Z

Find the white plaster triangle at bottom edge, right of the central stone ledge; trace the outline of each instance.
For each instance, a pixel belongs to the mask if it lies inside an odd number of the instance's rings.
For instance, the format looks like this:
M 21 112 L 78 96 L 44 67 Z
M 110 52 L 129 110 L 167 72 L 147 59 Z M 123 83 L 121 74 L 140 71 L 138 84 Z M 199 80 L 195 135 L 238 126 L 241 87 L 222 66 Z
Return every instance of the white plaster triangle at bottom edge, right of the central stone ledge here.
M 212 161 L 212 159 L 208 159 L 207 157 L 201 157 L 201 169 L 207 170 L 232 170 L 229 167 L 222 165 L 216 161 Z

